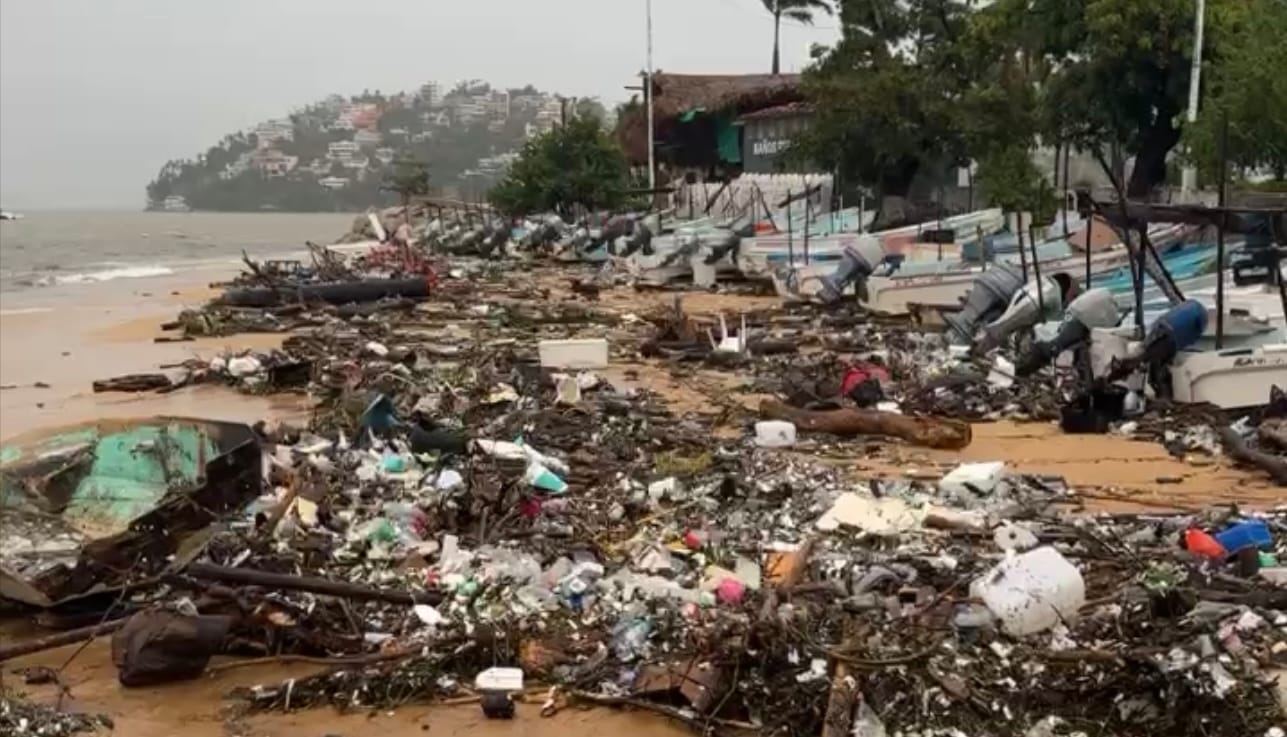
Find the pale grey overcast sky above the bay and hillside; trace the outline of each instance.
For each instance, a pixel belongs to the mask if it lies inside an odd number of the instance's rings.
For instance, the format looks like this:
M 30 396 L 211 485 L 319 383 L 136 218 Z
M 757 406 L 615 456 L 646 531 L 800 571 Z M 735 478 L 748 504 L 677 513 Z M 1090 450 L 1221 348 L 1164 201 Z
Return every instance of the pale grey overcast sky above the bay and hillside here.
M 672 72 L 767 72 L 759 0 L 653 0 Z M 784 24 L 798 71 L 834 18 Z M 533 84 L 625 99 L 644 67 L 644 0 L 4 0 L 0 205 L 143 205 L 169 158 L 331 93 L 426 80 Z

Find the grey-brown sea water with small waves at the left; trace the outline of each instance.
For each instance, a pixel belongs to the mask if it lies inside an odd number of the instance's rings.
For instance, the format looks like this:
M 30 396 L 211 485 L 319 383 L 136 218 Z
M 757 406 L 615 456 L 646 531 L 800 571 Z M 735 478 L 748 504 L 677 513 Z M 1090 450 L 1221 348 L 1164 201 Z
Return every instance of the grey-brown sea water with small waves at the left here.
M 333 243 L 355 215 L 241 212 L 30 212 L 0 221 L 0 293 L 71 289 L 241 261 Z M 8 305 L 5 305 L 6 311 Z M 15 307 L 23 309 L 23 307 Z

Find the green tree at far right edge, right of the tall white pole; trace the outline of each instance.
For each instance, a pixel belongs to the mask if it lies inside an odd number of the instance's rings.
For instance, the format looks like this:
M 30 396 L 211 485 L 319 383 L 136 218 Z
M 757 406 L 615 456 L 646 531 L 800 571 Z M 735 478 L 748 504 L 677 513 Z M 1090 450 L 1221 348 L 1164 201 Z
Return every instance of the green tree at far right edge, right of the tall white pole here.
M 1287 177 L 1287 3 L 1251 0 L 1218 15 L 1212 32 L 1237 39 L 1202 77 L 1198 120 L 1185 127 L 1187 159 L 1218 179 L 1228 120 L 1228 158 L 1242 170 L 1268 167 Z

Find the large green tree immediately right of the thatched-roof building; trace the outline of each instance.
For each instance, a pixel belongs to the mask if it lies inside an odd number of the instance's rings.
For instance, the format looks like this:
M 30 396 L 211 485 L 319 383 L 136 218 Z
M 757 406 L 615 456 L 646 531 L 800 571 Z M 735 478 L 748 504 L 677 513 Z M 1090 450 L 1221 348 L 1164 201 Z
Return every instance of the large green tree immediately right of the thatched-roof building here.
M 874 189 L 878 225 L 892 225 L 921 168 L 965 159 L 970 9 L 958 0 L 840 0 L 839 10 L 839 42 L 816 50 L 804 72 L 815 120 L 792 153 Z

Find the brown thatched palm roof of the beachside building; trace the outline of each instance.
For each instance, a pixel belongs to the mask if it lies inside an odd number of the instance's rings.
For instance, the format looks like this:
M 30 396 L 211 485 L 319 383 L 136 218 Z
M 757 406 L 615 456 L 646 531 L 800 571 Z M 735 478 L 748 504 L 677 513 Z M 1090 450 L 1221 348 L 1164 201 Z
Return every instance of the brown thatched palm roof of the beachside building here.
M 799 102 L 799 75 L 667 75 L 653 76 L 653 120 L 656 138 L 665 139 L 680 116 L 703 109 L 732 117 L 767 107 Z M 647 161 L 647 111 L 644 105 L 622 117 L 616 135 L 632 163 Z

